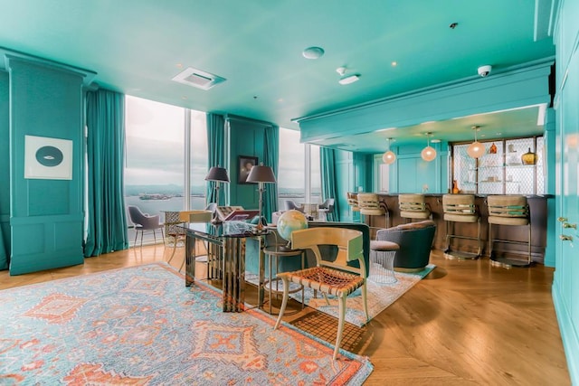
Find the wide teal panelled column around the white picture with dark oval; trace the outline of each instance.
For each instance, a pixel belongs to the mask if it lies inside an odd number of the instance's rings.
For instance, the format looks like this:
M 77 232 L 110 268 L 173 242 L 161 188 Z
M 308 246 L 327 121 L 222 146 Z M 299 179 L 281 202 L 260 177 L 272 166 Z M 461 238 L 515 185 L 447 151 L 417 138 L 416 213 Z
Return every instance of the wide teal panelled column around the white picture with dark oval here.
M 7 56 L 10 69 L 11 275 L 81 264 L 83 75 Z M 24 136 L 72 141 L 72 179 L 24 179 Z

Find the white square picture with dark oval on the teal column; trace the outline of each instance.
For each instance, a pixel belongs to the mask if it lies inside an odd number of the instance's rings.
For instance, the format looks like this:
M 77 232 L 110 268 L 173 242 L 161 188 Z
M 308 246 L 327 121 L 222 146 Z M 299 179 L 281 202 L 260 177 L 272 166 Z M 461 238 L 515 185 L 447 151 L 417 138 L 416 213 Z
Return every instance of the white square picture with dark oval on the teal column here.
M 72 179 L 72 141 L 24 136 L 24 178 Z

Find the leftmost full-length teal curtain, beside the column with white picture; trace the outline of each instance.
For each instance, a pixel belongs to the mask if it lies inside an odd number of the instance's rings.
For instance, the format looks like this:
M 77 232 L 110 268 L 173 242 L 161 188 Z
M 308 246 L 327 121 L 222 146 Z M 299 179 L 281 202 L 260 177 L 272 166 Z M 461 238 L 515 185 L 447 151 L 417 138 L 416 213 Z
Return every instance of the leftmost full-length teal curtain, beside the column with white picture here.
M 123 193 L 125 96 L 106 89 L 88 91 L 88 230 L 84 256 L 128 249 Z

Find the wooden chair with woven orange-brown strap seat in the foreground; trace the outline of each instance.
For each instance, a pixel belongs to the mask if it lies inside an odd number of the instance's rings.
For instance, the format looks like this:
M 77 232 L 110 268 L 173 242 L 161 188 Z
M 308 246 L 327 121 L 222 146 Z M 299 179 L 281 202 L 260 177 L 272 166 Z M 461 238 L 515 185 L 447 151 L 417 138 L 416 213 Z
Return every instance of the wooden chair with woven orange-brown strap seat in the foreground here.
M 335 245 L 338 248 L 337 258 L 334 261 L 327 261 L 321 258 L 320 245 Z M 365 287 L 365 261 L 363 249 L 363 236 L 361 231 L 354 231 L 344 228 L 309 228 L 302 231 L 294 231 L 291 234 L 291 246 L 294 249 L 311 249 L 317 260 L 317 267 L 301 269 L 295 272 L 283 272 L 278 275 L 283 281 L 283 301 L 281 303 L 280 315 L 274 329 L 280 326 L 281 318 L 285 312 L 289 297 L 289 283 L 297 283 L 301 286 L 312 288 L 327 295 L 338 298 L 338 322 L 336 348 L 334 349 L 334 360 L 337 358 L 342 333 L 344 332 L 344 319 L 346 317 L 346 297 L 362 288 L 362 299 L 364 302 L 364 312 L 366 321 L 368 317 L 368 306 L 366 301 Z M 358 260 L 359 268 L 348 266 L 348 261 Z

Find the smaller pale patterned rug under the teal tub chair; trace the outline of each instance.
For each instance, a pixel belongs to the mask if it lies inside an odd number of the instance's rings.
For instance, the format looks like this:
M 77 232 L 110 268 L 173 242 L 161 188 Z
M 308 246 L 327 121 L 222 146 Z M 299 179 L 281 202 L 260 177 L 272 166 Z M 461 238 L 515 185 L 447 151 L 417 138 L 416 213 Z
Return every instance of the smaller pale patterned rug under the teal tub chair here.
M 395 278 L 396 282 L 393 284 L 379 284 L 372 280 L 367 280 L 367 302 L 368 302 L 368 315 L 370 319 L 374 318 L 376 315 L 380 314 L 387 306 L 396 301 L 399 297 L 402 297 L 406 291 L 412 288 L 416 283 L 418 283 L 422 278 L 426 277 L 432 272 L 432 269 L 436 268 L 434 264 L 429 264 L 422 271 L 413 273 L 402 273 L 396 272 Z M 246 278 L 251 282 L 258 282 L 256 275 L 248 275 L 246 273 Z M 281 289 L 280 284 L 280 289 Z M 275 285 L 274 285 L 275 288 Z M 291 288 L 291 287 L 290 287 Z M 289 295 L 301 302 L 301 291 L 295 292 Z M 329 306 L 326 303 L 324 297 L 318 294 L 318 297 L 314 297 L 313 290 L 306 288 L 304 291 L 304 297 L 306 299 L 306 305 L 318 309 L 318 311 L 324 312 L 328 315 L 336 316 L 337 312 L 337 299 L 336 297 L 328 297 Z M 346 300 L 346 322 L 353 325 L 361 327 L 366 324 L 364 315 L 364 306 L 362 302 L 362 292 L 360 289 L 347 297 Z

